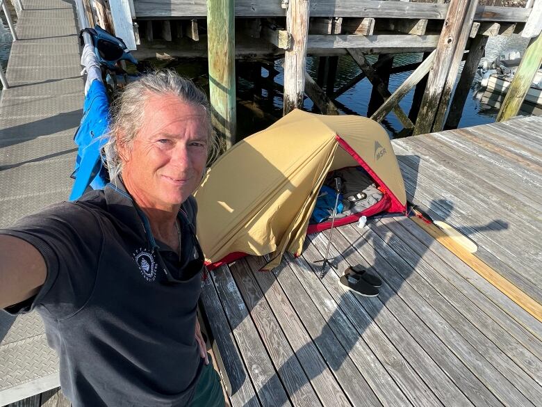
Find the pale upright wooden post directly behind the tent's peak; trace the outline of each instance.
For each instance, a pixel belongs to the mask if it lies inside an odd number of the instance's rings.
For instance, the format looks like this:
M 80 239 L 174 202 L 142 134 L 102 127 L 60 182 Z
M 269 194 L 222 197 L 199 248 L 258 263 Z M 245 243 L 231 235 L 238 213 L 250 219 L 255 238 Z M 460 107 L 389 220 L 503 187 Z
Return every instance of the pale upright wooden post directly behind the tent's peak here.
M 306 42 L 309 34 L 309 0 L 290 0 L 286 30 L 293 45 L 284 54 L 284 114 L 303 106 Z

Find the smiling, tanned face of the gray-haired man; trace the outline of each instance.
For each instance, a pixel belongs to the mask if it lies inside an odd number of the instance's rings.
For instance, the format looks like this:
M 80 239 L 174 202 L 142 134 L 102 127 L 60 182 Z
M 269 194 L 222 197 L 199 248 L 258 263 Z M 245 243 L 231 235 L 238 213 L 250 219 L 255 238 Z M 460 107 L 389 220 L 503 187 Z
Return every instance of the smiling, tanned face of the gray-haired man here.
M 120 147 L 124 183 L 144 207 L 171 211 L 195 191 L 205 169 L 208 127 L 202 106 L 153 95 L 131 149 Z

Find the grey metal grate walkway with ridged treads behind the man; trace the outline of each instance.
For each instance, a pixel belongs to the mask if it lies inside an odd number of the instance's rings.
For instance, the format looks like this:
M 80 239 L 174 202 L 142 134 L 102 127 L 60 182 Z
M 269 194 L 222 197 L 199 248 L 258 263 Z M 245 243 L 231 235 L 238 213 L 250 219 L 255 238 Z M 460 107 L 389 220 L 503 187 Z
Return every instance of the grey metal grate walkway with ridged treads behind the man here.
M 0 228 L 67 199 L 83 80 L 75 6 L 23 0 L 0 102 Z M 0 406 L 58 387 L 40 317 L 0 313 Z

